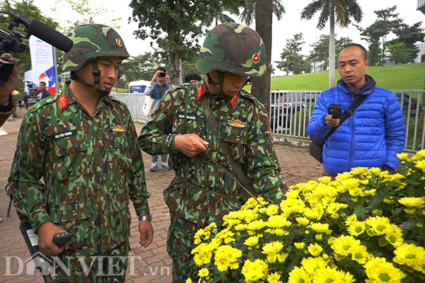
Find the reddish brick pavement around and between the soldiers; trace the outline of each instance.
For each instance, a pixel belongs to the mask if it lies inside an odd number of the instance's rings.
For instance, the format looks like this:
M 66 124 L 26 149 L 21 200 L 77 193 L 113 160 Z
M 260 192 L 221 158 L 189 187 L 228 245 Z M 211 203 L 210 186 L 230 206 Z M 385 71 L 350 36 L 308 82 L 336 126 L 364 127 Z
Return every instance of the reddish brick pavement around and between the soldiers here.
M 23 115 L 23 110 L 18 110 L 18 115 Z M 23 267 L 23 265 L 18 264 L 17 260 L 10 260 L 10 270 L 14 276 L 5 275 L 5 257 L 16 256 L 22 258 L 23 261 L 29 258 L 26 244 L 18 229 L 18 216 L 13 207 L 11 216 L 6 217 L 8 197 L 3 191 L 11 168 L 20 125 L 21 118 L 16 118 L 15 121 L 7 121 L 4 129 L 9 134 L 0 136 L 0 218 L 2 219 L 0 223 L 0 282 L 41 283 L 44 281 L 38 272 L 35 273 L 35 276 L 26 275 L 25 271 L 19 275 L 14 275 L 19 272 L 19 267 Z M 142 124 L 137 123 L 136 127 L 137 132 L 140 132 Z M 281 175 L 288 185 L 306 182 L 322 175 L 322 166 L 308 154 L 307 149 L 276 144 L 276 153 L 282 168 Z M 144 153 L 143 159 L 146 167 L 147 189 L 151 193 L 149 206 L 152 214 L 154 214 L 154 220 L 152 221 L 155 230 L 154 242 L 148 248 L 139 246 L 137 219 L 135 211 L 131 207 L 132 236 L 130 238 L 130 246 L 132 250 L 130 255 L 140 258 L 135 258 L 135 268 L 132 272 L 129 268 L 126 282 L 168 283 L 171 282 L 171 259 L 166 253 L 166 231 L 169 225 L 169 213 L 162 199 L 162 190 L 169 184 L 174 173 L 162 169 L 154 173 L 149 172 L 150 156 Z

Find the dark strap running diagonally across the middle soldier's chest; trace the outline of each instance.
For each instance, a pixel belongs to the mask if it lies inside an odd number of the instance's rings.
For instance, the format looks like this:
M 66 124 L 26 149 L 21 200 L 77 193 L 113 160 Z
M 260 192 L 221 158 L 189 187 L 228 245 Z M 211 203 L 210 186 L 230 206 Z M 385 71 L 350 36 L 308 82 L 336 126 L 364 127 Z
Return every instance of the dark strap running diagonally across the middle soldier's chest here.
M 246 177 L 246 175 L 244 174 L 244 171 L 242 171 L 241 166 L 239 166 L 239 164 L 236 161 L 234 161 L 234 158 L 232 154 L 230 153 L 229 144 L 227 144 L 226 141 L 218 137 L 218 123 L 217 123 L 217 120 L 215 120 L 214 114 L 212 113 L 210 108 L 210 98 L 208 98 L 208 96 L 204 94 L 200 98 L 200 104 L 202 105 L 205 116 L 207 117 L 208 124 L 210 125 L 212 130 L 212 134 L 214 134 L 214 137 L 215 139 L 217 139 L 217 142 L 220 145 L 220 148 L 222 149 L 225 156 L 227 157 L 227 160 L 232 165 L 234 173 L 236 173 L 239 180 L 242 181 L 241 183 L 242 185 L 244 185 L 244 187 L 251 189 L 251 183 L 249 182 L 248 177 Z

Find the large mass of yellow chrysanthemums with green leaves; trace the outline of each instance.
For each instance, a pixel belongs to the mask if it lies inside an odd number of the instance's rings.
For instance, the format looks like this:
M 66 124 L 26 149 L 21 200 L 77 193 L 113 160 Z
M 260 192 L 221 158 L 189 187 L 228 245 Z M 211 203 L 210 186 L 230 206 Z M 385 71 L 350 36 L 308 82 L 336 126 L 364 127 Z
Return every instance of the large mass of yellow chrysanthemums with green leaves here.
M 425 151 L 249 199 L 195 236 L 203 282 L 425 282 Z

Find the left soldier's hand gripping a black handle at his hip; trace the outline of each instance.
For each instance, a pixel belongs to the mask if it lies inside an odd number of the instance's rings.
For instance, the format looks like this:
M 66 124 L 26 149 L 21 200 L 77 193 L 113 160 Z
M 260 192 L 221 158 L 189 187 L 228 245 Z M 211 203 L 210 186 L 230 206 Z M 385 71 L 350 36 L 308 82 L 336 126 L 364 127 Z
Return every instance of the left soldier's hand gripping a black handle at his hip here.
M 59 255 L 64 249 L 68 248 L 68 244 L 60 248 L 55 243 L 53 243 L 53 235 L 55 233 L 66 232 L 60 226 L 53 224 L 52 222 L 46 222 L 45 224 L 38 227 L 38 246 L 43 255 L 53 256 Z

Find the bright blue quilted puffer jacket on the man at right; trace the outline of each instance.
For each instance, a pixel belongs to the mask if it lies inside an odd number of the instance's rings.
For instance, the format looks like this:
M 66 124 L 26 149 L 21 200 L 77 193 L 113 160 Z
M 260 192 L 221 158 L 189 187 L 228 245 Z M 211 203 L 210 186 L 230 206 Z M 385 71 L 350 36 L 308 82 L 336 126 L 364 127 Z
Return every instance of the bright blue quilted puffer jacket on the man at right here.
M 325 142 L 322 153 L 324 170 L 336 175 L 358 166 L 397 168 L 397 154 L 404 146 L 405 127 L 395 93 L 375 86 L 372 90 L 353 94 L 342 84 L 340 80 L 337 86 L 317 97 L 307 125 L 311 139 L 323 139 L 331 129 L 324 122 L 329 104 L 341 104 L 344 112 L 359 95 L 368 98 Z

